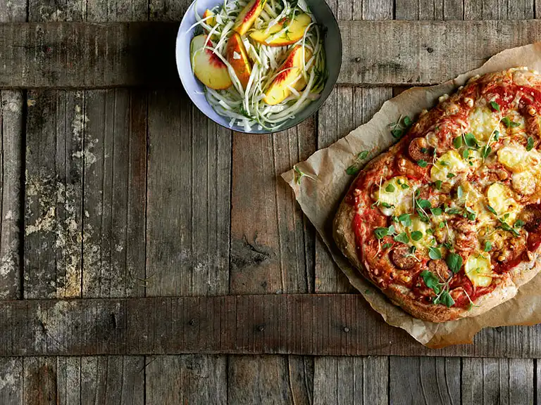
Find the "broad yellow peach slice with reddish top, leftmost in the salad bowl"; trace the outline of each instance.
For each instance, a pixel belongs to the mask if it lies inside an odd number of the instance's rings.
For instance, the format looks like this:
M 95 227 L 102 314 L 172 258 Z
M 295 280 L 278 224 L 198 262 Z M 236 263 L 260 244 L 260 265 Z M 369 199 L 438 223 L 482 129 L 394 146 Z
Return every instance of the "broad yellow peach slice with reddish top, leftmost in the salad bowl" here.
M 228 67 L 210 49 L 201 49 L 210 40 L 205 34 L 197 35 L 190 44 L 194 75 L 205 86 L 215 90 L 228 89 L 233 83 Z

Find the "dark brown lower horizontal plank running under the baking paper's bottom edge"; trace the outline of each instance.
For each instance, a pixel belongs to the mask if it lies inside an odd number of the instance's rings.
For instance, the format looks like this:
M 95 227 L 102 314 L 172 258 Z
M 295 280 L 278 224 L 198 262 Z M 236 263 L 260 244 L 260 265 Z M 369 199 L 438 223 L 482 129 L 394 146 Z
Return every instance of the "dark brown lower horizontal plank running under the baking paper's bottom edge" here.
M 367 319 L 367 306 L 360 295 L 346 294 L 3 301 L 0 356 L 541 356 L 541 326 L 522 328 L 530 333 L 527 346 L 485 335 L 482 345 L 476 339 L 475 345 L 427 349 L 404 331 Z

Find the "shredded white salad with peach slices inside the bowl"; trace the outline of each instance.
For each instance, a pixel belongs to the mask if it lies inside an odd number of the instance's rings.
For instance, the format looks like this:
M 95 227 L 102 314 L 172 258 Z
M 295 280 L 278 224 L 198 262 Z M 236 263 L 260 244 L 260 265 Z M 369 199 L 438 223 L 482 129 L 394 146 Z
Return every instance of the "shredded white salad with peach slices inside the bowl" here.
M 192 70 L 216 112 L 246 131 L 278 129 L 319 98 L 323 34 L 305 0 L 224 0 L 197 13 Z

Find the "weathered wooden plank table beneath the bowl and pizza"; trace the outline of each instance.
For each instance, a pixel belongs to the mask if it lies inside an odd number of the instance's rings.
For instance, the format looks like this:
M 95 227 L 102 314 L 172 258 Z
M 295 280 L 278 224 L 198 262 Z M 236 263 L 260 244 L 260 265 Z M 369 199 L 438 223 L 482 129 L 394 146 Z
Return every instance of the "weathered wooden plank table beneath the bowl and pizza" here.
M 541 401 L 539 326 L 418 345 L 355 294 L 278 179 L 404 86 L 539 39 L 540 2 L 329 3 L 339 86 L 256 136 L 180 88 L 187 0 L 0 0 L 1 405 Z

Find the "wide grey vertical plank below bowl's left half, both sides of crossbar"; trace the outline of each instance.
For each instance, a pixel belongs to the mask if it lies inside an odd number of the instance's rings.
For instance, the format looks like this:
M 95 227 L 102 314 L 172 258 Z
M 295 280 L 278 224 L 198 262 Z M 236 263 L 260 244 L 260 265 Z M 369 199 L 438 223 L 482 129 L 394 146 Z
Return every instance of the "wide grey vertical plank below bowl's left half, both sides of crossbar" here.
M 231 132 L 206 120 L 176 90 L 149 94 L 148 120 L 147 295 L 226 294 Z M 168 319 L 158 312 L 156 319 L 162 320 L 156 330 L 168 329 Z M 192 403 L 198 396 L 220 404 L 227 395 L 227 381 L 220 377 L 227 373 L 226 356 L 150 361 L 147 404 L 181 397 Z M 207 378 L 216 385 L 207 385 Z

